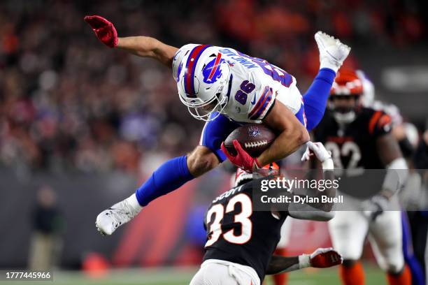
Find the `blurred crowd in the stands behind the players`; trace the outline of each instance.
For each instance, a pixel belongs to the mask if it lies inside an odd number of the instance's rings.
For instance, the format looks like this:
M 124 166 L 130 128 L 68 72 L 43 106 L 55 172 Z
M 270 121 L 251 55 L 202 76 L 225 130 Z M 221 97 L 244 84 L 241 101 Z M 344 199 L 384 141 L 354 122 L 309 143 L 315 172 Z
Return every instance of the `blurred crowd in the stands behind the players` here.
M 1 1 L 0 163 L 138 173 L 197 144 L 202 124 L 171 71 L 102 45 L 85 15 L 103 15 L 120 36 L 234 47 L 292 73 L 303 93 L 318 71 L 315 31 L 355 51 L 406 51 L 427 43 L 427 11 L 416 0 Z M 347 65 L 359 66 L 355 52 Z

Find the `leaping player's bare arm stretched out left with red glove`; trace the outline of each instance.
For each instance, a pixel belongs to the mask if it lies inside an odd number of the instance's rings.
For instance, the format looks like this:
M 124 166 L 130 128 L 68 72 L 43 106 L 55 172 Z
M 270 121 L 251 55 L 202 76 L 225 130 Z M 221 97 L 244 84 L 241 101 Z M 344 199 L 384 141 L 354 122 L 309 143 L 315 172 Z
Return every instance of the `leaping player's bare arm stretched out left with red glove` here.
M 90 24 L 99 41 L 108 47 L 118 47 L 139 57 L 157 59 L 162 64 L 172 67 L 172 60 L 177 47 L 166 45 L 149 36 L 129 36 L 120 38 L 112 22 L 98 15 L 86 16 L 85 22 Z

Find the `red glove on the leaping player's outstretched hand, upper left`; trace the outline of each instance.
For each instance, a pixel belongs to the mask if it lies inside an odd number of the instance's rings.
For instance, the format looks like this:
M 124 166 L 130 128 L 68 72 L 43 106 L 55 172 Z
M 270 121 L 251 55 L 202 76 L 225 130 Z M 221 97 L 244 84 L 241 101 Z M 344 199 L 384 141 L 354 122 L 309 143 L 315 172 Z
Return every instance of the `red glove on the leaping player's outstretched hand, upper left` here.
M 104 45 L 108 47 L 115 47 L 117 45 L 117 31 L 113 23 L 97 15 L 85 16 L 83 19 L 90 24 L 97 38 L 99 41 L 103 42 Z

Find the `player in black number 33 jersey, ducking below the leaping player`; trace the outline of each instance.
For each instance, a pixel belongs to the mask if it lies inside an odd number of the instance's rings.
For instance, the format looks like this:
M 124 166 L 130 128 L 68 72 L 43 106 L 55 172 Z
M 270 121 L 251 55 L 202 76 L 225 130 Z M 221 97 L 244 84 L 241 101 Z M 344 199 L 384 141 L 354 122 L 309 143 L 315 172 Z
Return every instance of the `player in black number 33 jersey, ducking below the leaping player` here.
M 319 142 L 308 142 L 305 157 L 309 152 L 322 162 L 324 179 L 334 179 L 333 161 L 324 146 Z M 258 185 L 255 183 L 257 180 L 252 180 L 252 174 L 238 169 L 236 187 L 213 200 L 205 217 L 207 242 L 204 262 L 191 285 L 258 285 L 265 275 L 309 266 L 327 268 L 341 263 L 341 255 L 331 248 L 317 249 L 312 254 L 301 256 L 273 256 L 280 240 L 280 228 L 287 216 L 328 220 L 333 217 L 329 212 L 333 203 L 311 204 L 316 208 L 314 211 L 292 210 L 291 206 L 287 212 L 256 211 L 252 196 L 253 187 Z M 326 189 L 323 194 L 334 197 L 336 189 Z

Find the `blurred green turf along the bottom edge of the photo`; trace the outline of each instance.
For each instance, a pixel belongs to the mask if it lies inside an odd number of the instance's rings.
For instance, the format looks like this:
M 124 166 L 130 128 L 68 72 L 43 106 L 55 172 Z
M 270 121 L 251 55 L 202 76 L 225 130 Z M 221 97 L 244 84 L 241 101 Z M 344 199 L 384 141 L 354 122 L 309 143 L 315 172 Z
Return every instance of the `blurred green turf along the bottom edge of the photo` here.
M 366 284 L 383 285 L 386 284 L 383 272 L 373 266 L 365 265 Z M 29 285 L 29 284 L 55 284 L 55 285 L 185 285 L 197 271 L 197 268 L 156 268 L 156 269 L 132 269 L 132 270 L 111 270 L 104 277 L 91 278 L 82 272 L 60 271 L 54 272 L 53 282 L 0 282 L 0 284 Z M 290 274 L 289 283 L 297 285 L 331 285 L 340 284 L 337 268 L 315 270 L 300 270 Z M 271 280 L 266 278 L 266 285 L 270 285 Z

